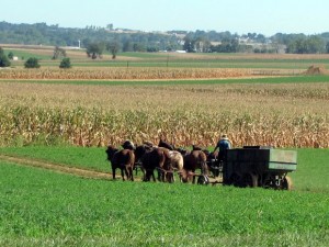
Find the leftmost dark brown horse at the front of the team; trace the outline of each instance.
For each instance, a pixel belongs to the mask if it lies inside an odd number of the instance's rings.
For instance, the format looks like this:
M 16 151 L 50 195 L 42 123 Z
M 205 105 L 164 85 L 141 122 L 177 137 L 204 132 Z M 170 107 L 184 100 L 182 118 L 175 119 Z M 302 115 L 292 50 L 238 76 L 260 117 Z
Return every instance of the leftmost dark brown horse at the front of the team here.
M 107 154 L 107 160 L 111 161 L 112 165 L 112 176 L 115 179 L 115 170 L 116 168 L 121 169 L 121 176 L 123 181 L 125 181 L 125 176 L 127 180 L 134 181 L 134 165 L 135 165 L 135 154 L 131 149 L 122 149 L 118 150 L 113 146 L 109 146 L 105 150 Z

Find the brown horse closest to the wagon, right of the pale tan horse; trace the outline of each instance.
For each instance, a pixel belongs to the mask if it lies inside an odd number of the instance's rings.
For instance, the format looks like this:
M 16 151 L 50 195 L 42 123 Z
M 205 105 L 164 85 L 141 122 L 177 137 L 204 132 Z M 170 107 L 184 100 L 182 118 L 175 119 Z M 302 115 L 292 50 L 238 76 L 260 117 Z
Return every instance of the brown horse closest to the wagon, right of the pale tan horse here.
M 201 169 L 202 175 L 208 173 L 207 157 L 203 150 L 192 150 L 184 156 L 184 170 L 182 175 L 183 182 L 188 182 L 192 178 L 195 183 L 195 170 Z

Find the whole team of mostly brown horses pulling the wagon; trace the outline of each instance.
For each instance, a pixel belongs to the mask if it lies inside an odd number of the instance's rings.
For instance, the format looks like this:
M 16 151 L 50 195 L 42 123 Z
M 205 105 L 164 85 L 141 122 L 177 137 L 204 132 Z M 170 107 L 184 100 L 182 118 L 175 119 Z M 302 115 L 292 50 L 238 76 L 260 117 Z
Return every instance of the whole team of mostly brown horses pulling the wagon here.
M 120 169 L 124 181 L 134 181 L 134 170 L 137 172 L 139 168 L 143 172 L 143 181 L 174 182 L 177 173 L 180 181 L 193 183 L 197 176 L 207 176 L 212 171 L 212 167 L 208 166 L 209 160 L 216 159 L 217 156 L 194 145 L 192 150 L 175 148 L 163 139 L 160 139 L 158 145 L 145 142 L 136 147 L 132 142 L 126 141 L 122 149 L 107 146 L 106 154 L 112 166 L 113 179 L 115 179 L 115 170 Z M 196 173 L 198 170 L 200 173 Z

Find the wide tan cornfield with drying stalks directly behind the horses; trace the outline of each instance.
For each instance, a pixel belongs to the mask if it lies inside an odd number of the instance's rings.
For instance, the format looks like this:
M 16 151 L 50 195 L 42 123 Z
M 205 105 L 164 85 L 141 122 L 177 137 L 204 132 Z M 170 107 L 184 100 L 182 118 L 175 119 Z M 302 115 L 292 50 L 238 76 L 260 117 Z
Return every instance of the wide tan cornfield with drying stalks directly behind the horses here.
M 0 83 L 0 145 L 329 147 L 329 87 Z

